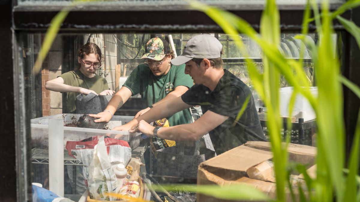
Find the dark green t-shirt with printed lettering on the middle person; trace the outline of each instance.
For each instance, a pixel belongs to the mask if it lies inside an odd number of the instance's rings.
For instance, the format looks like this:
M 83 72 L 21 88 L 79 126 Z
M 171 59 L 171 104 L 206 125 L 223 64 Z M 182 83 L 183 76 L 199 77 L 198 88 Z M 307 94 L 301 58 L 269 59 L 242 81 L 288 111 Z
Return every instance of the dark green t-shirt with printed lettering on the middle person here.
M 153 85 L 154 84 L 154 85 Z M 145 64 L 137 66 L 129 75 L 123 86 L 130 89 L 132 95 L 140 93 L 144 109 L 162 100 L 177 86 L 193 86 L 193 79 L 185 74 L 185 64 L 172 65 L 166 75 L 155 76 Z M 191 123 L 189 109 L 166 117 L 170 126 Z

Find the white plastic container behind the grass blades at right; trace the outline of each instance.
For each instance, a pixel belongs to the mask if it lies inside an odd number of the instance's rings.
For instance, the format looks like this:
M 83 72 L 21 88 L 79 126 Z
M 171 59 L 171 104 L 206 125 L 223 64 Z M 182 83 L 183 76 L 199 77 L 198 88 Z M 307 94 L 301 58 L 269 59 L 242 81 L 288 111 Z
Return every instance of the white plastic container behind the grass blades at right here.
M 308 89 L 315 97 L 318 96 L 318 87 L 309 87 Z M 293 87 L 284 87 L 279 89 L 280 96 L 280 115 L 289 116 L 289 102 L 294 91 Z M 296 121 L 303 118 L 304 121 L 316 119 L 314 109 L 312 109 L 309 101 L 301 94 L 297 94 L 291 116 L 295 116 Z

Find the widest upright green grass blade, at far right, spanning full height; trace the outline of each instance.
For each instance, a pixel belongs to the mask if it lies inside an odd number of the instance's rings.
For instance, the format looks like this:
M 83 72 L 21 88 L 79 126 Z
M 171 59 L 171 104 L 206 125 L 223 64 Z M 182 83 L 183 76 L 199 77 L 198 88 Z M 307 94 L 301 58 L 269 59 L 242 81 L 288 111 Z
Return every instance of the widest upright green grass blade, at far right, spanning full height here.
M 314 2 L 314 1 L 312 1 Z M 316 6 L 314 4 L 314 6 Z M 333 186 L 337 201 L 343 199 L 345 180 L 341 174 L 344 167 L 344 137 L 345 128 L 343 123 L 343 102 L 342 102 L 342 86 L 338 82 L 339 62 L 334 55 L 331 34 L 334 33 L 332 29 L 332 20 L 329 17 L 329 8 L 326 1 L 321 4 L 321 29 L 320 46 L 318 49 L 319 63 L 318 72 L 316 74 L 316 81 L 318 81 L 319 98 L 317 111 L 317 123 L 319 129 L 318 153 L 325 158 L 325 164 L 319 165 L 321 172 L 328 173 L 330 179 L 323 180 L 323 186 Z M 314 9 L 316 12 L 316 9 Z M 316 19 L 316 18 L 315 18 Z M 316 22 L 318 25 L 319 22 Z M 331 99 L 331 102 L 329 102 Z M 331 110 L 329 110 L 331 109 Z M 319 160 L 319 158 L 318 158 Z M 330 182 L 329 182 L 330 181 Z M 327 185 L 328 184 L 328 185 Z M 328 195 L 328 192 L 323 192 Z M 328 198 L 329 196 L 325 196 Z

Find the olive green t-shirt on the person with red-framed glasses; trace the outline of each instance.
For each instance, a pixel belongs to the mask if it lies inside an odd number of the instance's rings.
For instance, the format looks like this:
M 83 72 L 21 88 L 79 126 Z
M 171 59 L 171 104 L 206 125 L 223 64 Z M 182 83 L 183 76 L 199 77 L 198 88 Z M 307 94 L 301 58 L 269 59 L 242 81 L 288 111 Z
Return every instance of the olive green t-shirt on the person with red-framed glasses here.
M 101 93 L 109 88 L 108 82 L 103 77 L 95 74 L 95 77 L 88 78 L 80 72 L 80 70 L 66 72 L 60 75 L 64 79 L 64 84 L 75 87 L 82 87 Z M 72 114 L 76 110 L 76 96 L 79 93 L 63 92 L 65 100 L 63 101 L 63 113 Z

